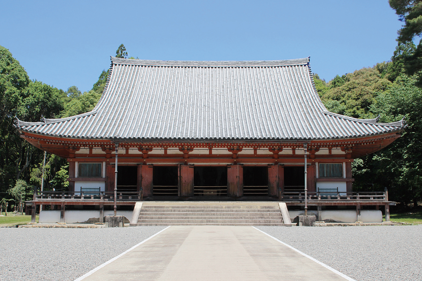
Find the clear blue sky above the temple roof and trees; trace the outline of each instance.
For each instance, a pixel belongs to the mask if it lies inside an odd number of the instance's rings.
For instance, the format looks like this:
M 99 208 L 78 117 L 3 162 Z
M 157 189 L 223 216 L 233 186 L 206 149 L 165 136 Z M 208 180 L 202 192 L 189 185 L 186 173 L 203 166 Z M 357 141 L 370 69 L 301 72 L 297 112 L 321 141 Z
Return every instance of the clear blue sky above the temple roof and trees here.
M 390 60 L 401 22 L 387 0 L 3 1 L 0 45 L 31 79 L 92 88 L 123 43 L 158 60 L 311 56 L 335 75 Z

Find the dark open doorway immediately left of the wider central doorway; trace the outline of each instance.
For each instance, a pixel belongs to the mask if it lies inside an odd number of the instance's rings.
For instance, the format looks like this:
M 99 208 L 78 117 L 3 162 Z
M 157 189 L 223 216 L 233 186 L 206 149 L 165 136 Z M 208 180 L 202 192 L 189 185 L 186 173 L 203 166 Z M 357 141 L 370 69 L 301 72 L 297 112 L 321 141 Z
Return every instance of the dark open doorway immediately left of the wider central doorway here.
M 179 195 L 177 166 L 154 166 L 152 185 L 154 196 Z

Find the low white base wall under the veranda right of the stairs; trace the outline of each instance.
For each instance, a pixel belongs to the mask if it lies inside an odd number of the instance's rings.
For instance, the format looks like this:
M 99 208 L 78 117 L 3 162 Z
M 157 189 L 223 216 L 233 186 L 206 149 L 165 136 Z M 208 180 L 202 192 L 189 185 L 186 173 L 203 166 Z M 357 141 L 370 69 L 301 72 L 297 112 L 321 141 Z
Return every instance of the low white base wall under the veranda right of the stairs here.
M 293 221 L 296 216 L 304 215 L 303 210 L 290 210 L 289 217 Z M 308 210 L 308 215 L 315 215 L 318 220 L 318 212 L 314 210 Z M 337 222 L 356 222 L 357 213 L 356 210 L 322 210 L 322 220 L 333 220 Z M 382 212 L 380 210 L 361 210 L 360 219 L 362 222 L 382 222 Z

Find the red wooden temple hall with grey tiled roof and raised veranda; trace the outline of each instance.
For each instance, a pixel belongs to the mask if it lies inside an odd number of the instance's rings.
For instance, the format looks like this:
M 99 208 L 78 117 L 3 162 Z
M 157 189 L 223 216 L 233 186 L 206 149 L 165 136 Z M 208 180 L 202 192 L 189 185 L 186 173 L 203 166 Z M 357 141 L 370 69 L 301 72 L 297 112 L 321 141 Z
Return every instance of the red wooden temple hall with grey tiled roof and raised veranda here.
M 354 193 L 352 162 L 405 127 L 327 111 L 309 58 L 111 57 L 92 111 L 16 120 L 22 138 L 70 164 L 69 190 L 38 192 L 32 203 L 101 210 L 112 208 L 115 185 L 118 209 L 138 201 L 281 201 L 299 209 L 305 189 L 311 209 L 387 209 L 394 202 L 383 190 Z

